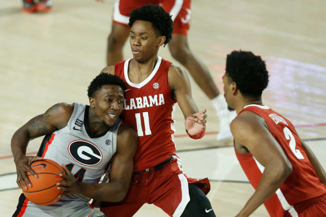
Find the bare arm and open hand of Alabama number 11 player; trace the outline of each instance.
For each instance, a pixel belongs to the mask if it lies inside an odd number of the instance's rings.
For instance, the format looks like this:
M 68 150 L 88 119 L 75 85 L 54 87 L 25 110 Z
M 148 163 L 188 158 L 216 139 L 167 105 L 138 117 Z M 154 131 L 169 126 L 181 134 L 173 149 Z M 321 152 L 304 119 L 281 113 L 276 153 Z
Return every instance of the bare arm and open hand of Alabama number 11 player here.
M 189 135 L 198 135 L 205 129 L 206 109 L 198 111 L 191 95 L 191 86 L 188 75 L 179 67 L 170 67 L 168 83 L 172 95 L 178 101 L 178 105 L 185 117 L 185 127 Z

